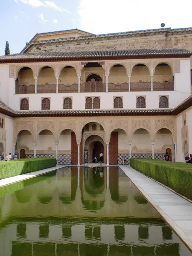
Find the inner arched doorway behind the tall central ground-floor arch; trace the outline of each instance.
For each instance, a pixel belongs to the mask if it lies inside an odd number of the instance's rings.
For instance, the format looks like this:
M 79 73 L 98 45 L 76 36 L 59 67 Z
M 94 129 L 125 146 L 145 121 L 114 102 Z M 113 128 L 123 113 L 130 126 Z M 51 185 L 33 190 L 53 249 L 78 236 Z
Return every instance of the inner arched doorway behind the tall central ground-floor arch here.
M 89 136 L 84 143 L 84 163 L 93 161 L 96 153 L 98 154 L 97 161 L 99 162 L 99 154 L 101 152 L 103 153 L 103 163 L 105 163 L 106 147 L 104 140 L 96 134 Z

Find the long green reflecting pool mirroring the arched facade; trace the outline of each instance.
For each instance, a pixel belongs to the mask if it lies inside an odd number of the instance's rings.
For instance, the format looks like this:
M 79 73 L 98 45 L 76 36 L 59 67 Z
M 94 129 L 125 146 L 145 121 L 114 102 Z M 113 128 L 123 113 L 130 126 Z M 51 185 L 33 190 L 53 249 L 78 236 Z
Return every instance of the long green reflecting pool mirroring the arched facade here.
M 119 167 L 0 188 L 0 256 L 192 256 Z

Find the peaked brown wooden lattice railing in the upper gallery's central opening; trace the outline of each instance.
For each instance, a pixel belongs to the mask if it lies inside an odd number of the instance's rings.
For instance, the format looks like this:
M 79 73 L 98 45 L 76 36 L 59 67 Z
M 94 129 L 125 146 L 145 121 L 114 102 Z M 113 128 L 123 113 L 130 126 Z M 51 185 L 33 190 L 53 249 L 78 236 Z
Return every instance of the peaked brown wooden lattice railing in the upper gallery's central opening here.
M 89 82 L 85 82 L 80 85 L 81 93 L 98 93 L 98 92 L 106 92 L 106 84 L 101 81 L 95 81 L 95 79 L 91 79 Z

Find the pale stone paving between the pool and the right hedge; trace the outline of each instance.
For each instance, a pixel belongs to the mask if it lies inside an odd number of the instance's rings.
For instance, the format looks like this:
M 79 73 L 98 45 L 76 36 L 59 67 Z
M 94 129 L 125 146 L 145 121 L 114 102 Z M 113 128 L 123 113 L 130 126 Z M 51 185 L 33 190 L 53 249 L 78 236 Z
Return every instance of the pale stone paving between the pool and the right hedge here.
M 120 168 L 192 251 L 192 203 L 128 165 Z

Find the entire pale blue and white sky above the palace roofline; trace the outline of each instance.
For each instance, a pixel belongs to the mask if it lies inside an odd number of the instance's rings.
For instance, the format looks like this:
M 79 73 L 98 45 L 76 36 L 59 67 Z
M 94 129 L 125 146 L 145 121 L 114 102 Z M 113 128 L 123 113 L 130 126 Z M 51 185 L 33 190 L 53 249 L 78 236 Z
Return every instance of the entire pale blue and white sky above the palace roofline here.
M 36 33 L 93 34 L 192 27 L 192 0 L 0 0 L 0 55 L 19 53 Z

